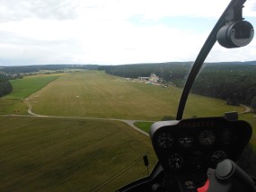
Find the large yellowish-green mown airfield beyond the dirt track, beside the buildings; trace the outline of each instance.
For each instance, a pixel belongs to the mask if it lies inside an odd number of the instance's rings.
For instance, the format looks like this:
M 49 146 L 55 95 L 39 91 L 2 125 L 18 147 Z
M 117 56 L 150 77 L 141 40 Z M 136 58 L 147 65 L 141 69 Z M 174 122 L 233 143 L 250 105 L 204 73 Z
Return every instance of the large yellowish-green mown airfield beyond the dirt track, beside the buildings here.
M 40 115 L 160 120 L 175 117 L 181 89 L 124 81 L 98 71 L 59 77 L 30 96 L 32 111 Z M 219 116 L 243 108 L 225 101 L 191 95 L 185 117 Z

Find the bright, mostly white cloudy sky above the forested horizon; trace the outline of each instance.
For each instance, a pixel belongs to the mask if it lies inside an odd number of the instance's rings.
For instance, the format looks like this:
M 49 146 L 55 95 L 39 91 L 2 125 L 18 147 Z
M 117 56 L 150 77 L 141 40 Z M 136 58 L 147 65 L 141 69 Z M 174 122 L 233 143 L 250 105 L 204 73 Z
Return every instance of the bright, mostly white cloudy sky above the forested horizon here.
M 0 65 L 194 61 L 228 0 L 0 0 Z M 243 17 L 256 27 L 256 1 Z M 256 60 L 217 43 L 207 62 Z

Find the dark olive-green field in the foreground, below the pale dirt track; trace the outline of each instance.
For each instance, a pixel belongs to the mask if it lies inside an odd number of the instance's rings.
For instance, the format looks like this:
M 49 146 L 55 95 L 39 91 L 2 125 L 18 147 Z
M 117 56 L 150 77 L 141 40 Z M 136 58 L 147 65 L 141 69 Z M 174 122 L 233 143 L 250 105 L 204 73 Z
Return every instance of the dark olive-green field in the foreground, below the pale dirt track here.
M 0 118 L 0 191 L 113 191 L 156 162 L 149 138 L 118 121 Z

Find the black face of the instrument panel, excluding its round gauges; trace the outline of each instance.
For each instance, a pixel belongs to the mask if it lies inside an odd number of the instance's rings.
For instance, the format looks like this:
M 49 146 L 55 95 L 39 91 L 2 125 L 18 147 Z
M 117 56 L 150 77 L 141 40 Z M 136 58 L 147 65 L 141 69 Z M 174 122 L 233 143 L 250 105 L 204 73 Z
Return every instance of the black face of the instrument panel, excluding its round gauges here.
M 199 134 L 204 130 L 211 130 L 216 135 L 214 144 L 203 145 L 199 143 Z M 222 134 L 224 131 L 231 133 L 230 143 L 224 144 Z M 169 134 L 173 136 L 173 144 L 170 148 L 161 148 L 157 143 L 157 136 L 160 134 Z M 190 147 L 184 147 L 179 144 L 181 135 L 190 135 L 194 138 Z M 223 117 L 217 118 L 189 118 L 173 121 L 156 122 L 150 129 L 150 137 L 154 146 L 154 152 L 163 166 L 163 170 L 173 174 L 182 172 L 206 172 L 207 168 L 216 168 L 216 163 L 211 161 L 210 156 L 216 151 L 224 151 L 226 158 L 237 161 L 243 153 L 243 149 L 248 144 L 252 136 L 252 127 L 243 120 L 230 121 Z M 195 152 L 201 153 L 197 161 L 202 161 L 202 167 L 197 168 L 193 163 Z M 181 154 L 183 165 L 181 169 L 172 169 L 168 163 L 170 155 L 174 153 Z

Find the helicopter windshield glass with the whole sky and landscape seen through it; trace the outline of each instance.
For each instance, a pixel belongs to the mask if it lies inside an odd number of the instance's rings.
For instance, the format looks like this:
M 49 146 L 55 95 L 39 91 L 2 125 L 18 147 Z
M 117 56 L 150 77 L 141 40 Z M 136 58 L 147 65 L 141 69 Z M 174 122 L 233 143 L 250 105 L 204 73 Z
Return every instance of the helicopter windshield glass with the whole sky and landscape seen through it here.
M 0 2 L 0 190 L 113 191 L 153 170 L 149 128 L 176 118 L 228 1 L 56 2 Z M 255 2 L 243 11 L 256 23 Z M 240 163 L 254 177 L 255 42 L 215 45 L 183 116 L 250 122 Z

